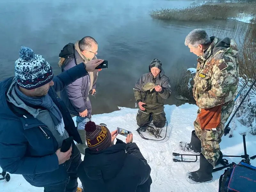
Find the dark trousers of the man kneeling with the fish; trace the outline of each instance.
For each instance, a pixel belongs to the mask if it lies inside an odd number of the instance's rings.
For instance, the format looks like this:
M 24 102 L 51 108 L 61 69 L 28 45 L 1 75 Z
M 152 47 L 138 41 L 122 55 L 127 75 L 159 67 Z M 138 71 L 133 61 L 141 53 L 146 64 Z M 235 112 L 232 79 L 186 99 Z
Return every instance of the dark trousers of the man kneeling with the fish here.
M 146 111 L 138 110 L 136 116 L 137 124 L 142 126 L 145 123 L 153 120 L 153 124 L 157 128 L 162 128 L 165 125 L 166 117 L 164 113 L 164 107 L 158 109 L 146 109 Z

